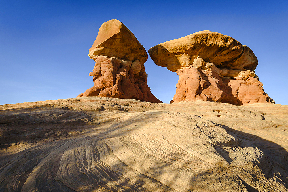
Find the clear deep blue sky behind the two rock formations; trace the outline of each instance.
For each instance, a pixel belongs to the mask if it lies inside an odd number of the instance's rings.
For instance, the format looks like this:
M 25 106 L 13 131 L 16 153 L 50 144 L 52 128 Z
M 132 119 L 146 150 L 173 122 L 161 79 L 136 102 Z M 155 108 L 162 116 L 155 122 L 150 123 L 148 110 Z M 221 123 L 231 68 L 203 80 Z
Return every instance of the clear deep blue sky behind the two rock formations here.
M 0 104 L 74 98 L 93 86 L 88 50 L 110 19 L 149 48 L 201 30 L 252 49 L 264 91 L 288 105 L 287 1 L 1 1 Z M 144 64 L 151 92 L 173 98 L 175 72 Z

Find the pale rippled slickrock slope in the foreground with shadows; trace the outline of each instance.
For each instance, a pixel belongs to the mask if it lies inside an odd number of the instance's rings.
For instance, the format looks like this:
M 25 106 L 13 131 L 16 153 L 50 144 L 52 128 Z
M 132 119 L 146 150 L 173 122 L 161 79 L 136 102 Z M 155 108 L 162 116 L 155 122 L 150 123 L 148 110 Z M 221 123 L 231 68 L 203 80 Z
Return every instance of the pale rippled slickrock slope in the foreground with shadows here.
M 288 106 L 0 105 L 0 191 L 288 191 Z

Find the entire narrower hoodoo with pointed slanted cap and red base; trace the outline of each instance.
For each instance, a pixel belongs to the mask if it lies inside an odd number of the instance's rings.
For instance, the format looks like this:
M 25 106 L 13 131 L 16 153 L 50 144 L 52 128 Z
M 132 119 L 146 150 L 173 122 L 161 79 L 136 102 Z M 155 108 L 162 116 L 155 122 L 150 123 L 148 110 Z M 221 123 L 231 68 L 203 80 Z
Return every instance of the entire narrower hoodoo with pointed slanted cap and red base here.
M 147 85 L 146 50 L 120 21 L 112 19 L 103 23 L 89 49 L 89 57 L 95 61 L 94 69 L 89 73 L 93 76 L 94 86 L 78 97 L 100 96 L 162 103 Z

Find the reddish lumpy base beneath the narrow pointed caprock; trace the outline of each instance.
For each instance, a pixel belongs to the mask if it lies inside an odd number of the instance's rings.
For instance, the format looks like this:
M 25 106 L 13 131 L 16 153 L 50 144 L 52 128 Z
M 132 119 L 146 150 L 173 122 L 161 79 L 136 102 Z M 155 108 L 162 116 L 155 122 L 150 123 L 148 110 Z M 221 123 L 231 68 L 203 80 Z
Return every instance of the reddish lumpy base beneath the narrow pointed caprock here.
M 107 56 L 92 59 L 95 67 L 89 75 L 93 76 L 94 86 L 77 97 L 100 96 L 162 103 L 151 93 L 144 65 L 139 60 L 132 62 Z

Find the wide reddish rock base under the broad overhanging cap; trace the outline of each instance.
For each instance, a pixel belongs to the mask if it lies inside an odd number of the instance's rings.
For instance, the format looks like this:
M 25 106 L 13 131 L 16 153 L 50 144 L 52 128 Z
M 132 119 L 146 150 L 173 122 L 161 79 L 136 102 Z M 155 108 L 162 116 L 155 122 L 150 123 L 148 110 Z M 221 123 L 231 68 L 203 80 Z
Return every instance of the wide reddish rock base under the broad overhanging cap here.
M 173 102 L 216 101 L 243 105 L 273 102 L 264 92 L 263 84 L 253 71 L 217 68 L 201 58 L 190 67 L 178 69 L 179 81 Z

